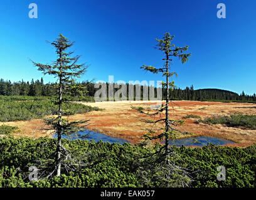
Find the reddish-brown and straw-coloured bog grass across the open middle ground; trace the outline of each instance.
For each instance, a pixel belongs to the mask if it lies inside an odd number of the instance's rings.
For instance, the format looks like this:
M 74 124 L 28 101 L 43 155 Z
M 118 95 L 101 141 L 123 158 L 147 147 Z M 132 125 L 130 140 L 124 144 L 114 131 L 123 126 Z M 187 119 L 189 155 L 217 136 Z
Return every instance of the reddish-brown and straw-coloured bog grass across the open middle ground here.
M 148 107 L 156 102 L 137 102 L 137 101 L 120 101 L 120 102 L 102 102 L 102 103 L 83 103 L 90 106 L 104 108 L 104 111 L 92 111 L 86 114 L 76 114 L 70 116 L 70 120 L 90 119 L 88 129 L 104 133 L 109 136 L 127 139 L 132 144 L 141 140 L 146 133 L 145 123 L 140 119 L 144 115 L 139 114 L 131 106 Z M 173 106 L 170 111 L 172 119 L 183 119 L 187 114 L 196 114 L 205 118 L 206 116 L 241 112 L 244 114 L 256 114 L 256 109 L 252 109 L 252 104 L 248 103 L 218 103 L 218 102 L 200 102 L 200 101 L 174 101 L 170 103 Z M 161 115 L 161 118 L 164 114 Z M 185 119 L 186 122 L 179 129 L 188 131 L 194 136 L 210 136 L 234 141 L 236 144 L 228 146 L 245 147 L 256 143 L 256 130 L 247 130 L 241 128 L 228 128 L 226 126 L 208 125 L 195 123 L 198 119 Z M 43 121 L 35 119 L 32 121 L 18 121 L 5 123 L 18 126 L 20 133 L 15 136 L 28 136 L 40 138 L 41 136 L 50 136 L 50 131 L 45 131 Z

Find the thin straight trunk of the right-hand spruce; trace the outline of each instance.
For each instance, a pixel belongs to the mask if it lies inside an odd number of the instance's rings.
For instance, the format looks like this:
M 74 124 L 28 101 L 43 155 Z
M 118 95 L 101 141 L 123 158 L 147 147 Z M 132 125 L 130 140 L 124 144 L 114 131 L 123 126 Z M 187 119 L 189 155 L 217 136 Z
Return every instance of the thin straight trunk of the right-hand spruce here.
M 169 56 L 166 54 L 166 154 L 168 153 L 168 146 L 169 146 Z

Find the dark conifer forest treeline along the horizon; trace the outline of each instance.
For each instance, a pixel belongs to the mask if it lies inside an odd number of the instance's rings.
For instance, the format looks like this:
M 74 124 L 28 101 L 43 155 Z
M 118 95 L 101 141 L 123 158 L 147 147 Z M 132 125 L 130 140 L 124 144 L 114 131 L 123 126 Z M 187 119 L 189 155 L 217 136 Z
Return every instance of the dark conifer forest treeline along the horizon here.
M 82 86 L 87 87 L 86 96 L 93 97 L 98 88 L 95 88 L 95 83 L 90 83 L 88 81 L 83 81 Z M 115 88 L 114 84 L 106 83 L 107 85 L 107 97 L 109 98 L 109 88 L 113 88 L 114 93 L 119 90 L 119 88 Z M 129 97 L 129 90 L 134 91 L 134 98 L 136 95 L 136 88 L 141 88 L 141 98 L 143 98 L 143 88 L 147 88 L 149 94 L 149 90 L 152 89 L 154 91 L 154 97 L 157 96 L 157 89 L 147 86 L 141 86 L 139 84 L 121 84 L 121 87 L 127 88 L 127 98 Z M 138 87 L 139 86 L 139 87 Z M 0 96 L 55 96 L 56 95 L 56 87 L 55 83 L 44 83 L 43 78 L 41 80 L 34 81 L 18 81 L 12 83 L 11 81 L 4 81 L 4 79 L 0 79 Z M 74 94 L 75 96 L 75 94 Z M 163 89 L 163 96 L 165 98 L 165 89 Z M 172 100 L 193 100 L 193 101 L 203 101 L 203 100 L 221 100 L 221 101 L 256 101 L 256 95 L 247 95 L 244 92 L 242 94 L 233 93 L 230 91 L 225 91 L 221 89 L 194 89 L 193 85 L 190 87 L 186 87 L 185 89 L 175 88 L 170 93 L 170 99 Z

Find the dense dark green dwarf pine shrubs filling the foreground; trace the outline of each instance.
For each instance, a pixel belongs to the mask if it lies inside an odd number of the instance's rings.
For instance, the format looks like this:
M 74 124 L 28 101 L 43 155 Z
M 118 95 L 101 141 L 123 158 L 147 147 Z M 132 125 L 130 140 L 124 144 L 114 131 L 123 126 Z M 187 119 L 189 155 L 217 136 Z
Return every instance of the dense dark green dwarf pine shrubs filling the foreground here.
M 157 187 L 161 180 L 141 171 L 142 157 L 156 151 L 131 144 L 94 143 L 62 139 L 67 149 L 84 153 L 85 166 L 61 176 L 29 181 L 29 166 L 39 166 L 56 151 L 56 139 L 29 139 L 7 137 L 0 139 L 0 187 Z M 247 148 L 213 146 L 203 148 L 173 147 L 176 160 L 189 168 L 191 187 L 256 187 L 256 144 Z M 73 156 L 73 155 L 72 155 Z M 226 181 L 218 181 L 218 166 L 225 166 Z M 40 169 L 38 167 L 38 169 Z M 40 171 L 38 173 L 38 178 Z M 147 180 L 147 181 L 145 181 Z M 175 181 L 175 180 L 173 180 Z

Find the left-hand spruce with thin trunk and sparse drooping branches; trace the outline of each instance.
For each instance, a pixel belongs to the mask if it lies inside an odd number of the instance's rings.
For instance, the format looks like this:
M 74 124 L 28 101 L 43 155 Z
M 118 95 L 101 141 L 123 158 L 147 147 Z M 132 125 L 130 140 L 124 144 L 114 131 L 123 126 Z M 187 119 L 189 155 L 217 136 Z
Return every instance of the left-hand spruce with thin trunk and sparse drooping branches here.
M 51 128 L 55 130 L 55 134 L 58 136 L 54 171 L 56 171 L 57 176 L 60 176 L 61 154 L 66 158 L 69 157 L 67 154 L 65 155 L 67 152 L 65 152 L 65 148 L 61 146 L 61 136 L 68 136 L 78 131 L 83 131 L 86 125 L 81 126 L 81 124 L 88 122 L 88 120 L 69 122 L 67 119 L 63 119 L 63 114 L 68 115 L 67 112 L 63 111 L 63 95 L 73 93 L 83 94 L 85 92 L 85 88 L 80 86 L 80 84 L 76 84 L 75 80 L 85 73 L 88 66 L 85 66 L 85 64 L 77 64 L 80 56 L 71 57 L 73 51 L 67 52 L 67 50 L 73 46 L 74 42 L 69 41 L 68 38 L 64 37 L 62 34 L 59 34 L 58 38 L 50 42 L 50 44 L 56 49 L 56 61 L 52 65 L 32 62 L 43 74 L 53 75 L 57 79 L 56 88 L 58 98 L 55 103 L 58 104 L 58 116 L 56 118 L 45 119 L 45 121 L 47 125 L 50 125 Z

